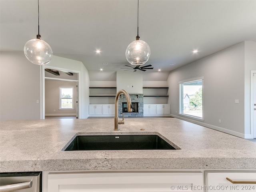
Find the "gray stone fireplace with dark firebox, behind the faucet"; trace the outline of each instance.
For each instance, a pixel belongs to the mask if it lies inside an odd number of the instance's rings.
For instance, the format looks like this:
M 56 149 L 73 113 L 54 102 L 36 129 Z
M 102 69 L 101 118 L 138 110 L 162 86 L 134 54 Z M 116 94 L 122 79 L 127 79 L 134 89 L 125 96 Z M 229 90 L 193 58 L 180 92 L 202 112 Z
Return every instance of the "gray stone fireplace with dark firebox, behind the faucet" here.
M 127 111 L 127 100 L 124 94 L 121 94 L 118 99 L 118 116 L 122 117 L 143 117 L 143 94 L 129 94 L 132 101 L 132 112 Z

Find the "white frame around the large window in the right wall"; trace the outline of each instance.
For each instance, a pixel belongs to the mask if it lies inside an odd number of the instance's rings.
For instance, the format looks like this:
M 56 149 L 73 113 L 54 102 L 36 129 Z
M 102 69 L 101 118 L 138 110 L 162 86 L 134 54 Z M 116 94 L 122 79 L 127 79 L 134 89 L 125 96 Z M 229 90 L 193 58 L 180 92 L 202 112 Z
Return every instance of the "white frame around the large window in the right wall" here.
M 187 83 L 191 83 L 191 82 L 197 82 L 197 81 L 202 81 L 202 118 L 199 117 L 199 116 L 193 116 L 193 115 L 183 113 L 183 90 L 182 90 L 182 85 L 187 84 Z M 178 83 L 179 83 L 179 94 L 180 94 L 179 95 L 179 115 L 184 116 L 184 117 L 188 117 L 188 118 L 192 118 L 192 119 L 196 119 L 196 120 L 204 121 L 204 76 L 198 76 L 198 77 L 194 77 L 194 78 L 188 78 L 188 79 L 185 79 L 185 80 L 180 80 Z

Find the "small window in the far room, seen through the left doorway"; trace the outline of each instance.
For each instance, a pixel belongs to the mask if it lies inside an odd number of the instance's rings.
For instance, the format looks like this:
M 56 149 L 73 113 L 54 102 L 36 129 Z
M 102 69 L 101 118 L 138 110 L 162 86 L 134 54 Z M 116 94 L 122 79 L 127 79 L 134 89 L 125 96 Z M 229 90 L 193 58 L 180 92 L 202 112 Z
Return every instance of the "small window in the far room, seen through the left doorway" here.
M 74 87 L 60 87 L 60 109 L 74 109 Z

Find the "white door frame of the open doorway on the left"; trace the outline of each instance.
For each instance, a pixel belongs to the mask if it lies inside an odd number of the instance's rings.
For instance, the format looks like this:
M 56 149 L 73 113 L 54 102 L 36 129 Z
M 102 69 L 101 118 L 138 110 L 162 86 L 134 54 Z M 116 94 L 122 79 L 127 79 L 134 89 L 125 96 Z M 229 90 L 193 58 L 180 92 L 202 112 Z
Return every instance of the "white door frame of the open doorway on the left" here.
M 48 78 L 45 77 L 45 71 L 44 69 L 54 69 L 54 70 L 60 70 L 60 71 L 68 71 L 68 72 L 72 72 L 72 73 L 77 73 L 78 75 L 78 80 L 70 80 L 70 79 L 61 79 L 61 78 Z M 62 81 L 74 81 L 77 82 L 78 84 L 78 109 L 76 109 L 76 118 L 79 119 L 79 108 L 80 108 L 80 97 L 79 97 L 79 93 L 81 92 L 80 90 L 80 71 L 76 71 L 76 70 L 71 70 L 71 69 L 65 69 L 65 68 L 59 68 L 59 67 L 53 67 L 53 66 L 41 66 L 40 67 L 40 89 L 41 89 L 41 96 L 40 96 L 40 105 L 41 105 L 41 110 L 40 110 L 40 119 L 45 119 L 45 79 L 54 79 L 54 80 L 62 80 Z

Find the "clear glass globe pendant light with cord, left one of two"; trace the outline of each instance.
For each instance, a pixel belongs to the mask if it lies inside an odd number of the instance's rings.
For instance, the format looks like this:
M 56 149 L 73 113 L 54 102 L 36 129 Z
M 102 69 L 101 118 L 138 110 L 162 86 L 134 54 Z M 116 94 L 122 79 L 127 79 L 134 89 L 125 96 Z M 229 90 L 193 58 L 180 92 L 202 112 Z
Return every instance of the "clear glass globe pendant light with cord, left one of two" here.
M 39 0 L 38 0 L 38 34 L 36 39 L 31 39 L 24 46 L 26 58 L 36 65 L 46 65 L 52 60 L 52 48 L 48 43 L 41 40 L 39 34 Z

